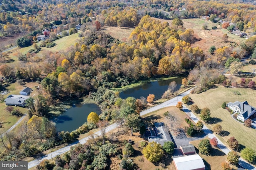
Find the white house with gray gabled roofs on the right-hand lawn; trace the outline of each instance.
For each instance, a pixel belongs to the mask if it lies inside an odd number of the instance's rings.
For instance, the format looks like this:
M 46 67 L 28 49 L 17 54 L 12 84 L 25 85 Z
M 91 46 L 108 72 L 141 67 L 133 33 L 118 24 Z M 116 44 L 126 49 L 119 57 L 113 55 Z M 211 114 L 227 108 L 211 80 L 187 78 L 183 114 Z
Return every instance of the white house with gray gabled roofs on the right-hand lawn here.
M 238 113 L 237 119 L 244 122 L 246 119 L 249 119 L 255 113 L 255 107 L 252 107 L 248 104 L 247 101 L 236 101 L 234 103 L 230 102 L 227 104 L 227 107 L 230 108 L 233 113 Z

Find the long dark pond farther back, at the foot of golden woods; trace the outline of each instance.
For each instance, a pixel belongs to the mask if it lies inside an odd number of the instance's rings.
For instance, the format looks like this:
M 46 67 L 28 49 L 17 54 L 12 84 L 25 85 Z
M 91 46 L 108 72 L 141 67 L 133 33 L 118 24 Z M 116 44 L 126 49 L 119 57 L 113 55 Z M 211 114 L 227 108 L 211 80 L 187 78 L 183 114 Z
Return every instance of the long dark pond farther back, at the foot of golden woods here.
M 161 99 L 162 95 L 164 92 L 168 89 L 168 86 L 170 82 L 175 81 L 177 84 L 177 87 L 175 89 L 178 90 L 180 89 L 181 82 L 183 78 L 173 78 L 173 79 L 168 79 L 168 80 L 160 80 L 160 81 L 154 81 L 150 83 L 144 83 L 142 85 L 139 85 L 137 87 L 133 87 L 130 89 L 127 89 L 125 91 L 122 91 L 119 96 L 122 99 L 126 99 L 127 97 L 134 97 L 136 99 L 140 99 L 140 97 L 145 97 L 149 94 L 154 94 L 155 95 L 155 100 Z

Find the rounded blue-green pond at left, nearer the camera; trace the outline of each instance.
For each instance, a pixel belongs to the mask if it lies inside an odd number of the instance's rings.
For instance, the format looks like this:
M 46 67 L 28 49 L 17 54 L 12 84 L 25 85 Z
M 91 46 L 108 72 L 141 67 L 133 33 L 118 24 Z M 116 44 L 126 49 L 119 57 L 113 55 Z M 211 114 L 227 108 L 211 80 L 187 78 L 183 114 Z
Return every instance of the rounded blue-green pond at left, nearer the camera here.
M 60 116 L 54 117 L 52 121 L 56 123 L 57 131 L 72 132 L 73 130 L 76 130 L 85 122 L 87 122 L 87 116 L 91 112 L 95 112 L 100 115 L 100 107 L 93 103 L 87 103 L 84 105 L 73 105 L 70 109 L 62 113 Z

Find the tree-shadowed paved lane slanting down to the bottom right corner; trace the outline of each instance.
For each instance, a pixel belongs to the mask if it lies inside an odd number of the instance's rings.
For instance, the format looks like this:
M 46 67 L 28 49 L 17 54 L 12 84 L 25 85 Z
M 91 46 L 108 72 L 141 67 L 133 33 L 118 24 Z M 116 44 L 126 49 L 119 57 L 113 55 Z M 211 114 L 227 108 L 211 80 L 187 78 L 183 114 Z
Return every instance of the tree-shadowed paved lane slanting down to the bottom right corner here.
M 185 106 L 183 107 L 183 111 L 186 112 L 186 114 L 195 122 L 198 122 L 198 118 L 196 117 L 196 115 L 194 115 L 188 108 L 186 108 Z M 213 138 L 216 137 L 218 140 L 218 148 L 220 148 L 225 154 L 228 154 L 228 152 L 230 152 L 231 150 L 229 148 L 227 148 L 221 141 L 220 139 L 212 133 L 212 131 L 206 127 L 204 125 L 204 127 L 202 128 L 202 130 L 204 130 L 204 133 L 209 137 L 209 138 Z M 256 168 L 254 166 L 252 166 L 251 164 L 245 162 L 245 160 L 243 160 L 242 158 L 239 158 L 238 160 L 238 164 L 240 166 L 242 166 L 243 168 L 246 168 L 248 170 L 256 170 Z

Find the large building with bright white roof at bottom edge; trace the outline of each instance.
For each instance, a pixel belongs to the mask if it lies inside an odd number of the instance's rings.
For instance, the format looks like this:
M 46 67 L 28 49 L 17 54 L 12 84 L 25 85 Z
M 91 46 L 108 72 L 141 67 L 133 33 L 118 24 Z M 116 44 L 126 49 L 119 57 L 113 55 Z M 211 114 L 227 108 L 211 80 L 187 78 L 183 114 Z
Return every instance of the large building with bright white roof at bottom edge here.
M 182 156 L 173 158 L 176 170 L 204 170 L 203 159 L 198 155 Z

